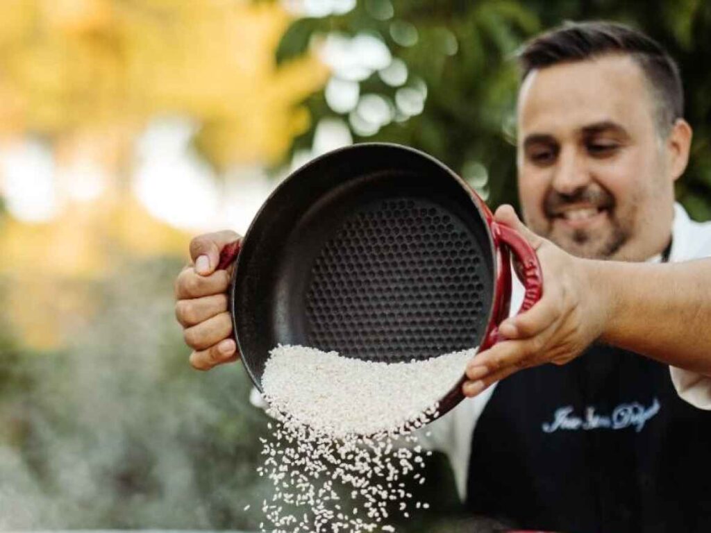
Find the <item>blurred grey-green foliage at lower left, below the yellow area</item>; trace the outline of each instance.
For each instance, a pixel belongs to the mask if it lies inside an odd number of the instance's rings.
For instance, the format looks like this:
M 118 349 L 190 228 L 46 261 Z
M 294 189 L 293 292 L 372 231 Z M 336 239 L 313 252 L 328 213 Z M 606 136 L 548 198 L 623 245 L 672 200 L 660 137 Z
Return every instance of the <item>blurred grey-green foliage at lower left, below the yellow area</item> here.
M 189 367 L 180 266 L 124 260 L 61 350 L 0 330 L 0 530 L 257 529 L 266 416 L 239 365 Z

